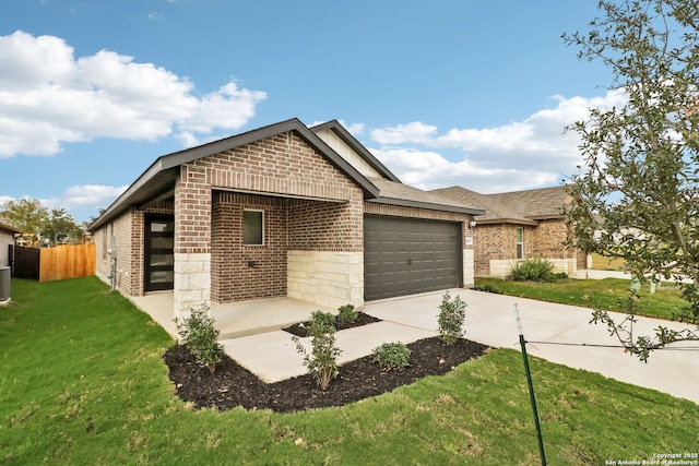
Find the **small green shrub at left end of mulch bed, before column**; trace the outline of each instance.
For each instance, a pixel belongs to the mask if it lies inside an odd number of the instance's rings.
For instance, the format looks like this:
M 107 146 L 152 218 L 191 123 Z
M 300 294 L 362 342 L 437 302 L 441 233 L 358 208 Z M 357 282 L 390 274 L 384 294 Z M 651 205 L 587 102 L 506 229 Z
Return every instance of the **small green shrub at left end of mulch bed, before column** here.
M 223 345 L 218 343 L 218 334 L 214 328 L 214 318 L 209 315 L 209 306 L 201 304 L 199 309 L 190 309 L 189 316 L 179 320 L 175 319 L 177 333 L 187 342 L 189 353 L 194 357 L 197 363 L 202 368 L 208 368 L 210 372 L 216 370 L 216 363 L 221 362 L 223 356 Z

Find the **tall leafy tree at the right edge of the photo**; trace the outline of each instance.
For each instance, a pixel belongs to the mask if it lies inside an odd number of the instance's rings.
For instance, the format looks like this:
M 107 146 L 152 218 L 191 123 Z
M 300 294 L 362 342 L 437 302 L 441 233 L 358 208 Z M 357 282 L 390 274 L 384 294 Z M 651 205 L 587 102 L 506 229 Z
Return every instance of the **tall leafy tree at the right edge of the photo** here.
M 609 87 L 623 93 L 616 108 L 595 108 L 576 122 L 584 159 L 569 183 L 582 202 L 569 212 L 574 246 L 621 258 L 641 279 L 689 278 L 683 331 L 656 328 L 636 336 L 638 300 L 615 322 L 596 311 L 595 322 L 642 360 L 670 343 L 699 339 L 699 2 L 600 1 L 590 31 L 564 35 L 579 57 L 603 62 Z

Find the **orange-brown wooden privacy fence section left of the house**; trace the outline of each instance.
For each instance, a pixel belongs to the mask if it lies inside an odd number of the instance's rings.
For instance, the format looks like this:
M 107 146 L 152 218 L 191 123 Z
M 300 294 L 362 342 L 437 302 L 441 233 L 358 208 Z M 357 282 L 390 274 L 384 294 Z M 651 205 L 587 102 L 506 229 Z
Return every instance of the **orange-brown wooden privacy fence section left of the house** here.
M 86 277 L 95 274 L 95 243 L 42 248 L 39 282 Z

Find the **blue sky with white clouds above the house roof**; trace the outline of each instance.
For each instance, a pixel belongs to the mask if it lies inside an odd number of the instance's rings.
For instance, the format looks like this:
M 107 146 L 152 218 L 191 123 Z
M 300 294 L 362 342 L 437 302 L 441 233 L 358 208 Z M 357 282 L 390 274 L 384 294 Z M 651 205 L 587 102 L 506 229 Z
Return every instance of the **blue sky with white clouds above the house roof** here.
M 337 119 L 403 182 L 503 192 L 581 163 L 619 99 L 577 59 L 596 0 L 0 0 L 0 203 L 96 216 L 158 156 Z

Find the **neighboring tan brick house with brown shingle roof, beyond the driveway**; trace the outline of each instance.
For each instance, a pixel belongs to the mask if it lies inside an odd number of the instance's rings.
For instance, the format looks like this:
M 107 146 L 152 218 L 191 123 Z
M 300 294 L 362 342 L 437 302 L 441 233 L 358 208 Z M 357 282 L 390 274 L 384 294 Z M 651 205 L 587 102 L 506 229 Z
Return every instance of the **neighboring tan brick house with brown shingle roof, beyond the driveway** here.
M 537 256 L 552 261 L 557 272 L 588 268 L 584 253 L 564 246 L 570 232 L 564 210 L 572 202 L 565 187 L 498 194 L 461 187 L 430 192 L 486 211 L 475 217 L 476 276 L 506 277 L 517 261 Z

